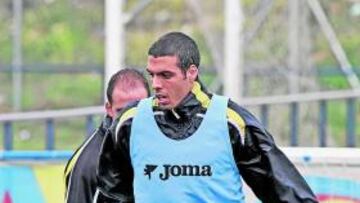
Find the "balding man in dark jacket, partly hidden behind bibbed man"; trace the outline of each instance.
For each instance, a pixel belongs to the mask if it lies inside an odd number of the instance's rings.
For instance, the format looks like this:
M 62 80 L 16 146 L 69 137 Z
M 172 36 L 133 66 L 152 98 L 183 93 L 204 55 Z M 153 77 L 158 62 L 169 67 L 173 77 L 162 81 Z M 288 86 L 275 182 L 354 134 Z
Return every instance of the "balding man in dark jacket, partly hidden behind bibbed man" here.
M 106 116 L 95 132 L 75 151 L 65 168 L 66 203 L 90 203 L 96 195 L 98 154 L 113 118 L 127 104 L 149 96 L 144 76 L 135 69 L 115 73 L 106 90 Z

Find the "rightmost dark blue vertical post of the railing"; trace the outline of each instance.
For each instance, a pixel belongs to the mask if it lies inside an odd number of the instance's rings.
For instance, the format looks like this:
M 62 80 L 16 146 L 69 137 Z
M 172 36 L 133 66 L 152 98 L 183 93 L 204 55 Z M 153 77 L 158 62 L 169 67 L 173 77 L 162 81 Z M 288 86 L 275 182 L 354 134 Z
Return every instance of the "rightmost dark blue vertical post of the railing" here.
M 346 123 L 346 146 L 355 147 L 355 123 L 356 123 L 356 109 L 355 99 L 349 98 L 346 100 L 347 106 L 347 123 Z

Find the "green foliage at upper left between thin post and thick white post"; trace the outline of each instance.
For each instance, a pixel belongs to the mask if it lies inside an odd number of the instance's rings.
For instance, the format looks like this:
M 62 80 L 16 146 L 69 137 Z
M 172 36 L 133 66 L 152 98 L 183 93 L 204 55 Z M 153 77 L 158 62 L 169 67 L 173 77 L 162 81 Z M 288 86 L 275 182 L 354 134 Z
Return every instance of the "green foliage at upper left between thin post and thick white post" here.
M 25 10 L 23 51 L 27 63 L 92 63 L 103 61 L 103 40 L 93 31 L 102 25 L 94 10 L 94 19 L 86 10 L 71 7 L 70 2 L 54 1 Z M 101 13 L 101 12 L 100 12 Z

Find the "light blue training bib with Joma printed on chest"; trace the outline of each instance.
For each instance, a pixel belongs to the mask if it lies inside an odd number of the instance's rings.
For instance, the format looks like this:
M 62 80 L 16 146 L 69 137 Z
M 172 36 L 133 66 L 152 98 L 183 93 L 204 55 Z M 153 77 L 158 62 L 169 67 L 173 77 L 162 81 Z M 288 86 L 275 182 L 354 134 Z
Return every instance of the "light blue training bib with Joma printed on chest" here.
M 135 202 L 245 202 L 226 119 L 228 99 L 214 95 L 197 131 L 183 140 L 164 135 L 152 98 L 139 103 L 130 136 Z

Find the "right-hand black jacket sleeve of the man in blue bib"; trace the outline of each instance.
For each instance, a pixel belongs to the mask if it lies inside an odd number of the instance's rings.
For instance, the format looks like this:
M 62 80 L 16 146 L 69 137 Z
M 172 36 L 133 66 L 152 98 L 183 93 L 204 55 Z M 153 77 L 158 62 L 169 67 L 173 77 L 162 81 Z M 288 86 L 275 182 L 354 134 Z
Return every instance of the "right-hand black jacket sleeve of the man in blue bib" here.
M 236 164 L 255 195 L 264 203 L 318 202 L 293 163 L 257 119 L 234 103 L 229 107 L 244 121 L 243 135 L 233 124 L 229 124 L 229 132 Z

